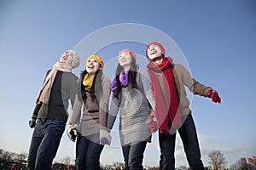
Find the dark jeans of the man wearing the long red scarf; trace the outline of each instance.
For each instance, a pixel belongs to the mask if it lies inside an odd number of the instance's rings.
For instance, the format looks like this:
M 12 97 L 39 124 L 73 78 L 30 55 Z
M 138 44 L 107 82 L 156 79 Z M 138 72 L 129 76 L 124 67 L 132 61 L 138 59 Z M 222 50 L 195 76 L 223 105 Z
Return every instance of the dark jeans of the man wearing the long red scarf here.
M 184 117 L 185 118 L 185 117 Z M 183 148 L 189 162 L 191 170 L 204 170 L 201 161 L 201 151 L 197 139 L 195 122 L 193 117 L 189 114 L 183 122 L 183 126 L 178 129 L 178 133 L 183 141 Z M 159 133 L 160 141 L 160 169 L 175 169 L 175 140 L 176 133 Z

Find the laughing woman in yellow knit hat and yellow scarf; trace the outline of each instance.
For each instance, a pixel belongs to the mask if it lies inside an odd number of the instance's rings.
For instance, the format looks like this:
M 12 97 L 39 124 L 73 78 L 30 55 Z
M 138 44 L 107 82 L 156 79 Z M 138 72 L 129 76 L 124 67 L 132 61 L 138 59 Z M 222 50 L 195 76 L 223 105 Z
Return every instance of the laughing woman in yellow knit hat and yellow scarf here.
M 85 70 L 78 81 L 73 111 L 68 123 L 68 137 L 76 140 L 76 169 L 100 169 L 100 155 L 111 137 L 106 128 L 110 79 L 104 76 L 103 60 L 93 54 L 85 60 Z M 104 87 L 104 88 L 103 88 Z M 82 105 L 84 109 L 80 114 Z

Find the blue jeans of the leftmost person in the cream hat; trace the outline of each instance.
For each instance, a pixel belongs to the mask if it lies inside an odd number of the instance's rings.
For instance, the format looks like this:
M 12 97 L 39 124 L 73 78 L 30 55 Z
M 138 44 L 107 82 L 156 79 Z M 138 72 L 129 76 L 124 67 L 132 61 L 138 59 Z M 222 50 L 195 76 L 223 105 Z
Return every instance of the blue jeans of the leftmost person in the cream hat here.
M 65 127 L 66 121 L 38 119 L 27 158 L 29 170 L 51 169 Z

